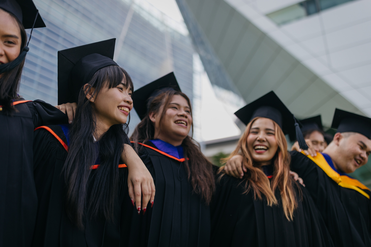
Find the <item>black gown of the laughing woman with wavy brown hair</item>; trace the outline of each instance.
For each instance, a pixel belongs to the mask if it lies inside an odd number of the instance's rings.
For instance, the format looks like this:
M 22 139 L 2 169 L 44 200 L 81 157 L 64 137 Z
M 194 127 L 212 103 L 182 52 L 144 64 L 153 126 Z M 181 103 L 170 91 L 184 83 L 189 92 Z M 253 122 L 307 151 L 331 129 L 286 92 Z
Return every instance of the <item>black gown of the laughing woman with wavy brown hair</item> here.
M 145 144 L 157 149 L 151 141 Z M 126 211 L 126 246 L 209 246 L 210 209 L 192 192 L 183 162 L 149 147 L 142 147 L 139 157 L 153 177 L 156 194 L 144 215 L 135 208 Z

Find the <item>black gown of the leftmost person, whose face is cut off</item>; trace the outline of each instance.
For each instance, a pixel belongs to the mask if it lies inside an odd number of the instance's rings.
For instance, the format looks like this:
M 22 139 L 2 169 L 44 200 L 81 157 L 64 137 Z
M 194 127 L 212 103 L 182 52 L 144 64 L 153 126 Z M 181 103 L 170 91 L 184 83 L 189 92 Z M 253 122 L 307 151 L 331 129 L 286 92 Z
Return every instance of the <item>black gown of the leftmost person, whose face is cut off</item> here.
M 30 246 L 37 210 L 33 130 L 68 123 L 68 118 L 41 100 L 14 107 L 17 111 L 11 115 L 0 111 L 0 246 Z

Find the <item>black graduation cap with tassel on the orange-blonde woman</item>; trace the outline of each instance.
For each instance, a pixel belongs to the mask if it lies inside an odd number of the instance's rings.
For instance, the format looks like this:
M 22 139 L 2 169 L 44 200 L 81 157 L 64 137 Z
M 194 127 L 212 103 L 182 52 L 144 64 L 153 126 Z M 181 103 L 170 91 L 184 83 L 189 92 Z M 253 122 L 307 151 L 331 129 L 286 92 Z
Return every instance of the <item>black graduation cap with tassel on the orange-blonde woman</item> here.
M 247 104 L 234 114 L 246 125 L 255 117 L 272 119 L 281 127 L 284 134 L 296 136 L 300 148 L 308 149 L 295 117 L 273 91 Z

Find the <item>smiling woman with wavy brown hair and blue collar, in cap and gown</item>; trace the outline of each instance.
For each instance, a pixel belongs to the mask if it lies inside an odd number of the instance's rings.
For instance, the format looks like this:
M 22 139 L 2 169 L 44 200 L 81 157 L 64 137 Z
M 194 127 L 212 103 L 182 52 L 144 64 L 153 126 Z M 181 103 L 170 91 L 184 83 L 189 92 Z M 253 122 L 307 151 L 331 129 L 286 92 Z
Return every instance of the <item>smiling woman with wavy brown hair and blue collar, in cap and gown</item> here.
M 173 73 L 138 89 L 133 97 L 142 121 L 131 140 L 154 178 L 156 201 L 145 215 L 132 214 L 124 245 L 209 246 L 213 165 L 189 136 L 189 98 Z

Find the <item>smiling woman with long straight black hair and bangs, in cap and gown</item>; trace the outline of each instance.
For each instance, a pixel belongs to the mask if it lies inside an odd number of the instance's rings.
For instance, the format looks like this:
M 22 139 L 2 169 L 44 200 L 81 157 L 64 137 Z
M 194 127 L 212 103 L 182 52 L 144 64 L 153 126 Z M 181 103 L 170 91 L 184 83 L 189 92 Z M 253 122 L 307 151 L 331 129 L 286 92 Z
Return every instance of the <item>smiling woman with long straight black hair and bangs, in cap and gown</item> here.
M 71 126 L 35 131 L 33 246 L 119 246 L 124 199 L 132 198 L 130 211 L 154 200 L 151 174 L 127 136 L 133 84 L 112 60 L 114 45 L 111 39 L 59 51 L 58 84 L 66 93 L 59 100 L 78 105 Z

